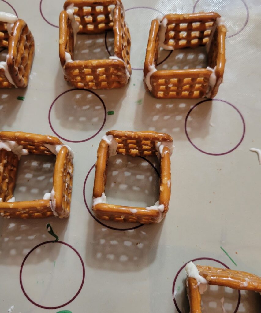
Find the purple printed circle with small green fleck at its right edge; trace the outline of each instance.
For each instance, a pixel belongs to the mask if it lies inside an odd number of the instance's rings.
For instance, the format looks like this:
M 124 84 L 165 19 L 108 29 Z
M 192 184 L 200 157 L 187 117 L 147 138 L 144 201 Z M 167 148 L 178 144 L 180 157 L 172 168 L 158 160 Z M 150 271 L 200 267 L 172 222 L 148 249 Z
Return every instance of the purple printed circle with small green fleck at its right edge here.
M 98 130 L 93 136 L 91 136 L 91 137 L 89 137 L 89 138 L 87 138 L 87 139 L 83 139 L 83 140 L 70 140 L 70 139 L 66 139 L 66 138 L 62 137 L 61 135 L 59 135 L 59 134 L 55 131 L 55 129 L 54 129 L 53 125 L 52 125 L 52 122 L 51 122 L 51 110 L 52 110 L 53 105 L 54 105 L 55 102 L 57 101 L 57 99 L 59 99 L 62 95 L 66 94 L 67 92 L 75 91 L 75 90 L 78 90 L 78 91 L 79 91 L 79 90 L 81 90 L 81 91 L 86 91 L 86 92 L 90 92 L 91 94 L 95 95 L 95 96 L 101 101 L 102 106 L 103 106 L 103 108 L 104 108 L 104 120 L 103 120 L 103 122 L 102 122 L 102 126 L 99 128 L 99 130 Z M 88 140 L 92 139 L 93 137 L 95 137 L 95 136 L 97 136 L 97 135 L 99 134 L 99 132 L 102 130 L 102 128 L 103 128 L 103 126 L 104 126 L 104 124 L 105 124 L 105 122 L 106 122 L 106 114 L 107 114 L 107 110 L 106 110 L 106 106 L 105 106 L 105 104 L 104 104 L 104 101 L 102 100 L 102 98 L 101 98 L 99 95 L 97 95 L 97 93 L 95 93 L 94 91 L 89 90 L 89 89 L 77 89 L 77 88 L 73 88 L 73 89 L 69 89 L 69 90 L 66 90 L 66 91 L 62 92 L 60 95 L 58 95 L 58 96 L 55 98 L 55 100 L 53 101 L 53 103 L 51 104 L 50 109 L 49 109 L 48 121 L 49 121 L 49 125 L 50 125 L 52 131 L 53 131 L 53 132 L 55 133 L 55 135 L 58 136 L 60 139 L 65 140 L 65 141 L 68 141 L 68 142 L 79 143 L 79 142 L 88 141 Z

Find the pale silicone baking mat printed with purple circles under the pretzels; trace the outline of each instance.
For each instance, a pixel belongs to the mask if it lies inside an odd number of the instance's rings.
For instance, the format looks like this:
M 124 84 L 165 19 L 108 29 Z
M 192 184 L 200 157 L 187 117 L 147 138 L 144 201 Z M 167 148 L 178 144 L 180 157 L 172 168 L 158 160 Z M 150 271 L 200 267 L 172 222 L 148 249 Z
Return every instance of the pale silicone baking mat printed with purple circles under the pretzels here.
M 261 165 L 258 155 L 249 151 L 261 149 L 261 2 L 123 0 L 123 5 L 132 38 L 128 85 L 75 90 L 63 78 L 58 54 L 63 1 L 0 0 L 0 11 L 28 23 L 36 47 L 28 87 L 0 91 L 1 130 L 58 136 L 75 151 L 68 219 L 0 219 L 3 313 L 188 313 L 188 261 L 261 275 Z M 216 98 L 153 98 L 144 90 L 142 71 L 151 20 L 200 11 L 220 13 L 227 25 L 224 83 Z M 79 35 L 76 50 L 78 59 L 108 58 L 113 54 L 112 34 Z M 0 54 L 3 59 L 6 51 Z M 161 51 L 158 59 L 163 69 L 186 68 L 193 62 L 204 63 L 200 49 Z M 173 136 L 172 196 L 161 223 L 112 223 L 93 217 L 96 151 L 111 129 Z M 53 160 L 23 158 L 17 199 L 50 192 Z M 153 205 L 158 170 L 154 159 L 110 159 L 108 200 Z M 58 242 L 52 242 L 47 223 Z M 210 287 L 202 297 L 204 312 L 222 312 L 222 297 L 227 313 L 261 311 L 257 293 Z

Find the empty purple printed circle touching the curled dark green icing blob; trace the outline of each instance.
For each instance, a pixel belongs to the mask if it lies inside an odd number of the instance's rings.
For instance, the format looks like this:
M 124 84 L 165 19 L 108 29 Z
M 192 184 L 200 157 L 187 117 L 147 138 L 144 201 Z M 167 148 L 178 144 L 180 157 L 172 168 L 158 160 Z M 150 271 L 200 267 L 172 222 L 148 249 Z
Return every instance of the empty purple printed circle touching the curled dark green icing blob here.
M 23 270 L 23 266 L 24 266 L 24 263 L 26 261 L 26 259 L 29 257 L 29 255 L 35 250 L 37 249 L 38 247 L 44 245 L 44 244 L 64 244 L 66 245 L 67 247 L 69 247 L 70 249 L 72 249 L 76 254 L 77 256 L 79 257 L 80 261 L 81 261 L 81 265 L 82 265 L 82 281 L 81 281 L 81 285 L 80 285 L 80 288 L 79 290 L 77 291 L 76 295 L 74 295 L 73 298 L 71 298 L 69 301 L 67 301 L 65 304 L 62 304 L 62 305 L 57 305 L 57 306 L 45 306 L 45 305 L 40 305 L 36 302 L 34 302 L 34 300 L 32 300 L 29 295 L 27 295 L 26 291 L 24 290 L 24 287 L 23 287 L 23 282 L 22 282 L 22 270 Z M 20 274 L 19 274 L 19 280 L 20 280 L 20 285 L 21 285 L 21 288 L 22 288 L 22 291 L 23 291 L 23 294 L 26 296 L 26 298 L 31 302 L 33 303 L 34 305 L 38 306 L 39 308 L 42 308 L 42 309 L 48 309 L 48 310 L 51 310 L 51 309 L 59 309 L 69 303 L 71 303 L 76 297 L 77 295 L 79 295 L 81 289 L 82 289 L 82 286 L 83 286 L 83 283 L 84 283 L 84 279 L 85 279 L 85 268 L 84 268 L 84 263 L 83 263 L 83 260 L 81 258 L 81 255 L 79 254 L 79 252 L 74 248 L 72 247 L 70 244 L 67 244 L 66 242 L 63 242 L 63 241 L 53 241 L 53 240 L 49 240 L 49 241 L 44 241 L 42 242 L 41 244 L 38 244 L 37 246 L 35 246 L 33 249 L 31 249 L 28 254 L 26 254 L 25 258 L 23 259 L 23 263 L 21 265 L 21 268 L 20 268 Z

